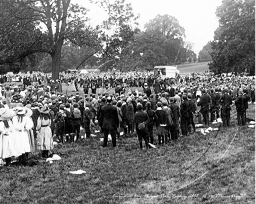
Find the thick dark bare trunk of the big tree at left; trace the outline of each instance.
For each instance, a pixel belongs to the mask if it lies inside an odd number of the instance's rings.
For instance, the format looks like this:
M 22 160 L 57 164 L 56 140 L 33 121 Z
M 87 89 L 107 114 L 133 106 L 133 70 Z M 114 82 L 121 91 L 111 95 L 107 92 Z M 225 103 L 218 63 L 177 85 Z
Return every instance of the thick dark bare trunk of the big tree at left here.
M 51 53 L 52 58 L 52 80 L 56 81 L 59 79 L 59 72 L 61 69 L 61 49 L 62 40 L 59 40 L 55 44 L 54 52 Z

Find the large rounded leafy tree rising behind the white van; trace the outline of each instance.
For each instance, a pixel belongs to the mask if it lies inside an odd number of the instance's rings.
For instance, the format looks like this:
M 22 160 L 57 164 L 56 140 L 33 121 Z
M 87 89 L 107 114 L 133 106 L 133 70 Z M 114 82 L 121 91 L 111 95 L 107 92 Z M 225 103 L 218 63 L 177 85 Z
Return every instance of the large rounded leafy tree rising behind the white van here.
M 131 69 L 152 70 L 154 66 L 177 65 L 193 60 L 196 55 L 184 42 L 185 30 L 178 20 L 169 15 L 158 15 L 145 24 L 145 31 L 137 33 L 130 44 Z M 129 63 L 130 62 L 130 63 Z

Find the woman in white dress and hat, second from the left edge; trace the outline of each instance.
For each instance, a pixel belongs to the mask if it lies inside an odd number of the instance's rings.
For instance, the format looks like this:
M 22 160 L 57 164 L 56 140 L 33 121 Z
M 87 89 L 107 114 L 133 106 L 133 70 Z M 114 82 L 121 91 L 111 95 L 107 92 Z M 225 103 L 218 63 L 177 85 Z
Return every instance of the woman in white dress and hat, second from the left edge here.
M 25 108 L 17 107 L 16 112 L 17 116 L 12 119 L 13 135 L 15 137 L 17 153 L 21 154 L 19 162 L 22 163 L 29 156 L 29 152 L 31 152 L 28 130 L 33 128 L 33 121 L 25 115 Z

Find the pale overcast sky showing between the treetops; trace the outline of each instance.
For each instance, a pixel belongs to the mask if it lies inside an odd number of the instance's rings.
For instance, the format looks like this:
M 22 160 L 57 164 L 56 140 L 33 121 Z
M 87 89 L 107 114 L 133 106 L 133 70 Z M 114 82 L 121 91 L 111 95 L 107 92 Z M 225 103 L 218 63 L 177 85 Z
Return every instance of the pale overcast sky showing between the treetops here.
M 208 41 L 214 38 L 214 31 L 218 27 L 216 8 L 222 5 L 222 0 L 126 0 L 131 3 L 134 14 L 140 15 L 138 23 L 143 30 L 145 23 L 157 15 L 176 17 L 180 26 L 184 27 L 185 41 L 193 44 L 193 51 L 198 54 Z M 100 24 L 106 18 L 97 6 L 88 0 L 72 0 L 90 9 L 88 16 L 91 24 Z

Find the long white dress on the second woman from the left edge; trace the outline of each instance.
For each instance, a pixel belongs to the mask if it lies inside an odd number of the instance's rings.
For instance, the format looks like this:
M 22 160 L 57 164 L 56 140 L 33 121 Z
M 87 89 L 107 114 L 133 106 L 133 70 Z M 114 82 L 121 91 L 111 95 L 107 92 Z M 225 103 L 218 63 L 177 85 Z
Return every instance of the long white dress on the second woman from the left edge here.
M 31 130 L 33 128 L 33 121 L 27 116 L 23 116 L 22 121 L 18 121 L 18 116 L 15 116 L 12 121 L 17 152 L 20 155 L 26 152 L 31 152 L 27 130 Z

